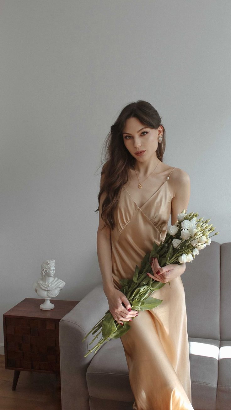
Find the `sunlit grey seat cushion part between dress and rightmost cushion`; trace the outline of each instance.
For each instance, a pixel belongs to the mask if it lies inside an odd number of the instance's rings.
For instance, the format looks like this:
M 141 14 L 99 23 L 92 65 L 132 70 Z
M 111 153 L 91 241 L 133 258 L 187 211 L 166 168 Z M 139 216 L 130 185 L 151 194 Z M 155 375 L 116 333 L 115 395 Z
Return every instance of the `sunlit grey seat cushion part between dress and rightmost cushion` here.
M 189 337 L 192 405 L 215 410 L 220 340 Z

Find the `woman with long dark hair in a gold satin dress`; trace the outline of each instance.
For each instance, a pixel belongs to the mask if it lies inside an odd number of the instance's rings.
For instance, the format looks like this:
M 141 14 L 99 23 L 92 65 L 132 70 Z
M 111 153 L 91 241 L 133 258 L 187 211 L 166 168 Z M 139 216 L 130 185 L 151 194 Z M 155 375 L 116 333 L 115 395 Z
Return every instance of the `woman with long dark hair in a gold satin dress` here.
M 106 162 L 98 194 L 97 254 L 103 289 L 115 321 L 130 329 L 121 337 L 136 410 L 185 410 L 191 381 L 185 292 L 185 264 L 160 268 L 153 260 L 149 276 L 169 284 L 153 292 L 162 303 L 151 310 L 131 310 L 119 290 L 153 242 L 165 239 L 171 215 L 187 210 L 190 178 L 164 164 L 165 128 L 155 108 L 139 100 L 124 107 L 107 137 Z M 142 153 L 138 153 L 142 151 Z

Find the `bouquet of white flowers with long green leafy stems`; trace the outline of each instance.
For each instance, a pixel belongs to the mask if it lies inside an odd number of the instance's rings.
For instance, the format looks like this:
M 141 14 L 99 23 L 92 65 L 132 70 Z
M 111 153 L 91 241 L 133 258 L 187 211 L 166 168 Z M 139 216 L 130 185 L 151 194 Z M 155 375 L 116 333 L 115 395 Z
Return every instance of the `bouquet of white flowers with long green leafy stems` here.
M 162 303 L 161 299 L 156 299 L 150 295 L 156 289 L 160 289 L 166 283 L 159 282 L 147 276 L 147 272 L 151 269 L 151 258 L 156 257 L 161 267 L 167 264 L 181 264 L 192 262 L 195 255 L 199 254 L 200 249 L 204 249 L 206 245 L 210 245 L 210 232 L 215 230 L 212 224 L 208 225 L 210 219 L 203 221 L 203 218 L 197 219 L 198 213 L 185 213 L 185 209 L 181 214 L 178 214 L 177 221 L 174 225 L 167 227 L 167 234 L 165 240 L 160 244 L 153 243 L 151 252 L 147 252 L 144 259 L 141 261 L 141 267 L 135 266 L 135 273 L 132 279 L 120 279 L 122 285 L 121 292 L 126 295 L 133 310 L 150 310 Z M 214 235 L 218 235 L 216 232 Z M 212 236 L 214 236 L 212 235 Z M 169 282 L 168 282 L 169 283 Z M 170 286 L 170 283 L 169 283 Z M 170 286 L 171 287 L 171 286 Z M 133 318 L 135 319 L 135 318 Z M 119 323 L 114 320 L 110 310 L 105 312 L 105 316 L 96 323 L 94 328 L 82 339 L 82 342 L 90 333 L 96 336 L 90 342 L 93 343 L 95 339 L 102 333 L 101 339 L 98 341 L 84 357 L 89 355 L 92 351 L 94 353 L 100 346 L 111 339 L 117 339 L 124 335 L 130 329 L 128 322 L 124 322 L 124 326 L 118 326 Z

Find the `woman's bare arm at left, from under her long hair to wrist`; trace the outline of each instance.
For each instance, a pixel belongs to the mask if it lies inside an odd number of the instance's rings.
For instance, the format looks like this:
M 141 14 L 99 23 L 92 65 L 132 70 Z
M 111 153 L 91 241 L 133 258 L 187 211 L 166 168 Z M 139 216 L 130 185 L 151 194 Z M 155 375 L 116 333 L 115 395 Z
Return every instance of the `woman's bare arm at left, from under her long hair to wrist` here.
M 101 186 L 102 186 L 101 176 Z M 103 279 L 103 291 L 107 296 L 108 293 L 115 290 L 114 283 L 112 280 L 112 244 L 111 244 L 111 229 L 105 227 L 103 230 L 100 230 L 105 225 L 103 219 L 101 218 L 102 212 L 102 203 L 105 199 L 106 193 L 103 192 L 100 198 L 99 203 L 99 224 L 97 231 L 97 255 L 98 255 L 98 264 L 100 267 L 102 279 Z

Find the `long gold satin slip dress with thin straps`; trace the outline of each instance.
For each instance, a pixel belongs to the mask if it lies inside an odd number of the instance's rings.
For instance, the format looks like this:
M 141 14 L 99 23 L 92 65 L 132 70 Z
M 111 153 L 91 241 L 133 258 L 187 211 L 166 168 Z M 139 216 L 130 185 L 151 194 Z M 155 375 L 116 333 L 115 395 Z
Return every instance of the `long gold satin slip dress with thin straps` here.
M 172 171 L 175 169 L 174 167 Z M 171 171 L 171 173 L 172 173 Z M 112 277 L 132 278 L 137 264 L 153 242 L 165 239 L 171 215 L 172 198 L 168 179 L 142 205 L 133 200 L 125 187 L 114 212 L 111 231 Z M 150 271 L 152 274 L 152 271 Z M 193 410 L 191 399 L 189 344 L 185 292 L 181 277 L 170 280 L 151 296 L 162 303 L 140 311 L 130 329 L 120 339 L 135 397 L 134 410 Z

